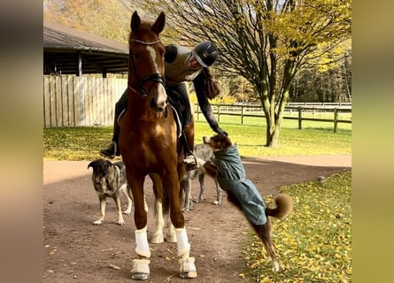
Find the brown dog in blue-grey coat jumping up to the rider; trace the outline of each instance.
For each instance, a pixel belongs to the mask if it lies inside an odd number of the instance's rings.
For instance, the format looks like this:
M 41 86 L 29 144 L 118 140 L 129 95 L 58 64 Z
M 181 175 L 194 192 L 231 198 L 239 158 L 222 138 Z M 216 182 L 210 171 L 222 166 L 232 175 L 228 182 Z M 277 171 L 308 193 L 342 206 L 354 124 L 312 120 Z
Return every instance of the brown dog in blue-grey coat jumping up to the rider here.
M 254 231 L 263 242 L 268 256 L 273 261 L 274 272 L 279 271 L 279 264 L 271 239 L 272 224 L 269 217 L 285 218 L 293 209 L 290 195 L 280 194 L 274 198 L 276 207 L 266 208 L 259 191 L 246 178 L 246 173 L 236 145 L 224 134 L 204 137 L 203 142 L 213 149 L 215 160 L 205 163 L 205 171 L 213 178 L 217 178 L 220 187 L 228 194 L 228 200 L 243 210 Z

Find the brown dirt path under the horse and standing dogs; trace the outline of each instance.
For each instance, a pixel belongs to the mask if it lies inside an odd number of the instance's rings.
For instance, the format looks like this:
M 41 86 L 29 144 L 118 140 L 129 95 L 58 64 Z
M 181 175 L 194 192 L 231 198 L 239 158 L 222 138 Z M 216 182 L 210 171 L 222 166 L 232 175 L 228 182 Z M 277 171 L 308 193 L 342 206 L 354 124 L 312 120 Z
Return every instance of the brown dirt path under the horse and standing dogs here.
M 244 158 L 247 176 L 262 195 L 276 195 L 278 188 L 318 176 L 352 170 L 350 156 Z M 116 224 L 112 199 L 107 200 L 106 217 L 101 226 L 99 203 L 91 183 L 88 161 L 43 162 L 43 282 L 130 282 L 135 258 L 133 214 L 125 216 L 125 226 Z M 246 282 L 239 274 L 245 269 L 243 245 L 251 229 L 243 215 L 226 200 L 213 205 L 214 183 L 205 180 L 205 202 L 195 203 L 185 212 L 191 244 L 196 257 L 195 282 Z M 151 180 L 145 182 L 148 196 L 148 237 L 154 228 Z M 192 182 L 197 199 L 198 180 Z M 122 195 L 123 196 L 123 195 Z M 122 198 L 122 204 L 126 203 Z M 150 244 L 151 278 L 146 282 L 184 282 L 179 277 L 176 244 Z M 279 255 L 280 258 L 280 255 Z M 267 264 L 271 264 L 267 260 Z

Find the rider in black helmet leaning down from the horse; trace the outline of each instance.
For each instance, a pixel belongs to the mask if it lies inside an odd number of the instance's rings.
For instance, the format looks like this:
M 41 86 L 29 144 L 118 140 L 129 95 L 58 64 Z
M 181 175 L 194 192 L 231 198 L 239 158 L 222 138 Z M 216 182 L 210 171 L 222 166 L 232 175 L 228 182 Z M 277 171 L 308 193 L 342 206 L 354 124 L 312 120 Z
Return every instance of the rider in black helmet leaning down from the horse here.
M 177 109 L 182 121 L 182 140 L 186 156 L 184 162 L 187 164 L 188 170 L 196 168 L 197 161 L 191 152 L 194 144 L 194 131 L 188 127 L 192 114 L 185 81 L 193 81 L 198 104 L 212 130 L 218 134 L 227 135 L 219 127 L 218 121 L 213 115 L 211 104 L 208 102 L 208 98 L 212 99 L 220 93 L 209 70 L 209 67 L 216 61 L 218 54 L 219 52 L 213 42 L 198 43 L 193 50 L 177 45 L 166 46 L 166 93 L 169 103 Z M 118 119 L 121 112 L 126 109 L 127 89 L 115 104 L 112 144 L 108 149 L 100 150 L 100 154 L 104 157 L 120 156 Z

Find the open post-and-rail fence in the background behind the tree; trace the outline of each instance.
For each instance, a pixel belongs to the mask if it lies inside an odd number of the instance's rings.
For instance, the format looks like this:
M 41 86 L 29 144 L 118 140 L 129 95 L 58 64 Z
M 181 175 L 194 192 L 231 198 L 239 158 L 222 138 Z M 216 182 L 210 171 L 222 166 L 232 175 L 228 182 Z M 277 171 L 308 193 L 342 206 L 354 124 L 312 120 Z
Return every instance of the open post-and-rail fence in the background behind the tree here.
M 265 118 L 263 108 L 259 104 L 212 104 L 212 111 L 218 121 L 220 116 L 237 116 L 240 117 L 240 123 L 243 124 L 245 117 Z M 201 112 L 198 104 L 195 105 L 196 119 L 199 119 Z M 297 113 L 294 116 L 294 113 Z M 332 119 L 319 118 L 318 114 L 332 113 Z M 336 133 L 338 123 L 352 124 L 352 115 L 349 119 L 340 119 L 340 113 L 352 113 L 352 103 L 287 103 L 283 112 L 283 119 L 297 119 L 298 129 L 302 129 L 303 121 L 332 122 L 334 132 Z M 327 116 L 327 115 L 324 115 Z

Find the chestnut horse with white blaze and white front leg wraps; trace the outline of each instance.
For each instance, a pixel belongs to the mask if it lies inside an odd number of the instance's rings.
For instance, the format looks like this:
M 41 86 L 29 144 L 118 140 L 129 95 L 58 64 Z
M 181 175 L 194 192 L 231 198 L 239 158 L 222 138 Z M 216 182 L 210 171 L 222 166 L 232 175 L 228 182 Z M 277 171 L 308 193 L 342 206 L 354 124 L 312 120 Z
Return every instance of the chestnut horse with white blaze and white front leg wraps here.
M 185 173 L 182 142 L 179 142 L 176 118 L 167 104 L 164 87 L 164 53 L 159 34 L 165 26 L 164 12 L 155 22 L 143 20 L 135 11 L 128 39 L 129 64 L 127 112 L 120 119 L 120 152 L 126 165 L 127 182 L 135 201 L 135 252 L 132 279 L 148 279 L 150 256 L 147 237 L 147 213 L 143 206 L 143 183 L 151 176 L 154 186 L 168 195 L 170 218 L 174 225 L 180 276 L 197 277 L 194 257 L 180 205 L 180 180 Z

